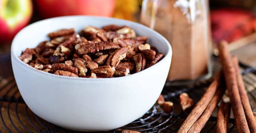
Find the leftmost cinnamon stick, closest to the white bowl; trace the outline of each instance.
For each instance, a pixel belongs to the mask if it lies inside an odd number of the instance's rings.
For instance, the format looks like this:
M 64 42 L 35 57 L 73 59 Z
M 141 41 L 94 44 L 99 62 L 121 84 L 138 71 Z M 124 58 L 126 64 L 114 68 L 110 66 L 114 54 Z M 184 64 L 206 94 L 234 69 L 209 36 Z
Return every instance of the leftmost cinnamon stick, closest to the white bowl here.
M 196 122 L 196 120 L 201 116 L 205 108 L 208 106 L 209 102 L 213 98 L 220 84 L 221 72 L 217 75 L 214 81 L 211 83 L 209 88 L 206 90 L 204 95 L 201 97 L 200 101 L 197 102 L 193 110 L 187 116 L 187 119 L 183 122 L 182 126 L 177 133 L 187 133 L 191 126 Z

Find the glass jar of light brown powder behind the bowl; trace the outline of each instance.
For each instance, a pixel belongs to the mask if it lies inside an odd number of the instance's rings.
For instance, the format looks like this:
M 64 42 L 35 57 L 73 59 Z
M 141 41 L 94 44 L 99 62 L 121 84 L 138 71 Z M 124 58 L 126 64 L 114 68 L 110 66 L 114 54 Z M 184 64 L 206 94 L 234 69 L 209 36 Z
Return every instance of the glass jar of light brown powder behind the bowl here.
M 173 48 L 167 81 L 187 84 L 211 77 L 208 0 L 143 0 L 141 23 Z

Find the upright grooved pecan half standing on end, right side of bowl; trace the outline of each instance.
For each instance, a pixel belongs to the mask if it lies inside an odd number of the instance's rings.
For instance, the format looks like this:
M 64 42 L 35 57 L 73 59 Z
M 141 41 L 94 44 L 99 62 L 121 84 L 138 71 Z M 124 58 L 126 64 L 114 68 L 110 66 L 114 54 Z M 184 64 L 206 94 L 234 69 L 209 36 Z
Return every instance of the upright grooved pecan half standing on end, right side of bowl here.
M 143 54 L 138 53 L 134 57 L 135 62 L 135 72 L 140 72 L 141 70 L 144 70 L 146 65 L 146 58 Z

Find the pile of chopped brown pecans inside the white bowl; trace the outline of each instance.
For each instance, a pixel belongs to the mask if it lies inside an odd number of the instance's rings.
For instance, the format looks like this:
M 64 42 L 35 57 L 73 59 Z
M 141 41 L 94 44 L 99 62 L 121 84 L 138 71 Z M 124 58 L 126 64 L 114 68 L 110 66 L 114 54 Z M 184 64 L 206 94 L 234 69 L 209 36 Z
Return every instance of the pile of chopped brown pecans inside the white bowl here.
M 48 34 L 50 41 L 27 48 L 19 57 L 30 66 L 70 77 L 120 77 L 140 72 L 160 61 L 163 54 L 136 36 L 128 26 L 87 26 L 80 34 L 61 29 Z

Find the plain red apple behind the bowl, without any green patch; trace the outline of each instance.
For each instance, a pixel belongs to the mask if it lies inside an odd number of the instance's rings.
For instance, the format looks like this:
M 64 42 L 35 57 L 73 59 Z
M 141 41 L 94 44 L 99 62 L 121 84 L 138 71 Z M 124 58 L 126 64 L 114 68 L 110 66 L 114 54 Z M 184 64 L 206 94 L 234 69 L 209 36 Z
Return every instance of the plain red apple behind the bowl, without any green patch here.
M 36 0 L 43 18 L 67 15 L 112 16 L 115 0 Z

